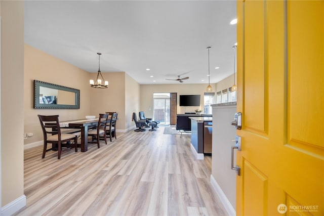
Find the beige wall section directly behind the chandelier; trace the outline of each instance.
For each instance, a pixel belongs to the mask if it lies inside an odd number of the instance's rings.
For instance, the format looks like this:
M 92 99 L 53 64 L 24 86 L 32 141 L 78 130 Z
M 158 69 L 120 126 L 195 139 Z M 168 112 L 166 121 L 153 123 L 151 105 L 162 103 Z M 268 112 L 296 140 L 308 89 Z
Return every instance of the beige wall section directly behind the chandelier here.
M 105 112 L 118 112 L 116 130 L 126 129 L 125 119 L 125 72 L 102 73 L 104 80 L 109 81 L 108 89 L 90 89 L 90 110 L 87 115 L 96 115 Z M 95 79 L 96 73 L 89 73 L 89 79 Z

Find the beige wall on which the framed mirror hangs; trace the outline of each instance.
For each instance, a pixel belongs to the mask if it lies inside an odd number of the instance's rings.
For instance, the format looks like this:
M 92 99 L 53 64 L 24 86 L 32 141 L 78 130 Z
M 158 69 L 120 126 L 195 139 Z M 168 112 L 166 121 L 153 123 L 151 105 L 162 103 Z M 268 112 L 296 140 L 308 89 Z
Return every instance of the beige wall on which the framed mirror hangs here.
M 37 114 L 59 115 L 60 121 L 82 119 L 90 112 L 89 73 L 41 50 L 24 45 L 24 132 L 32 137 L 24 144 L 43 141 L 43 132 Z M 33 80 L 50 82 L 80 90 L 79 109 L 34 109 Z M 22 135 L 23 135 L 22 133 Z

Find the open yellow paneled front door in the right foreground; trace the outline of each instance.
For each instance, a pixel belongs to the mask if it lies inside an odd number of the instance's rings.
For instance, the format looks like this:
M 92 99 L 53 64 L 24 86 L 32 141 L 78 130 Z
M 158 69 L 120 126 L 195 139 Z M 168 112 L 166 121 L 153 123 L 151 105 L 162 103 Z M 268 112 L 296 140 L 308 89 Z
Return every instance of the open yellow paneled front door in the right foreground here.
M 324 1 L 237 2 L 237 215 L 324 215 Z

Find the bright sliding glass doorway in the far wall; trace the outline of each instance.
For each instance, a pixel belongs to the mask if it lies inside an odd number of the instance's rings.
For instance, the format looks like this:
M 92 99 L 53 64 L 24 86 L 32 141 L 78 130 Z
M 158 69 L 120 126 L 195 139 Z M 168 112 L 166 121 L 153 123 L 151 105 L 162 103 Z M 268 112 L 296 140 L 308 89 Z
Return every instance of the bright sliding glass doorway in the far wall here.
M 153 116 L 159 125 L 170 125 L 170 93 L 153 93 Z

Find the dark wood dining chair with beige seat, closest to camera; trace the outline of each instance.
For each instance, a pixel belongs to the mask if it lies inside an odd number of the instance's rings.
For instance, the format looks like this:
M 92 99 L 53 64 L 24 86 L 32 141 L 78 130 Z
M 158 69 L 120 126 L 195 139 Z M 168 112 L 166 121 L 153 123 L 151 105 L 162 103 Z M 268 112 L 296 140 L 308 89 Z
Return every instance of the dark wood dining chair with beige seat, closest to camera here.
M 53 150 L 53 146 L 57 145 L 58 154 L 57 159 L 61 158 L 62 147 L 71 147 L 71 141 L 74 141 L 75 152 L 77 152 L 77 136 L 73 134 L 61 134 L 59 115 L 37 115 L 39 122 L 41 122 L 44 147 L 42 158 L 45 157 L 47 151 Z M 47 144 L 51 143 L 52 148 L 47 149 Z M 66 143 L 66 144 L 64 144 Z

